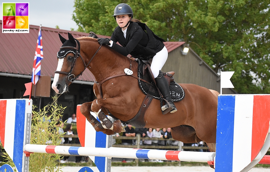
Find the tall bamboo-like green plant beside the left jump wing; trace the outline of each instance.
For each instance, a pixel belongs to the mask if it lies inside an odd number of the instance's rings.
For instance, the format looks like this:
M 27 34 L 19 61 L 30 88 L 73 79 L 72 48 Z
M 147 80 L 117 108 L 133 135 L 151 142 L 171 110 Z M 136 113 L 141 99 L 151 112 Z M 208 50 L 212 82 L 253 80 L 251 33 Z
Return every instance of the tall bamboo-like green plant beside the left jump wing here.
M 59 119 L 63 116 L 63 111 L 66 107 L 55 103 L 56 97 L 53 97 L 53 103 L 46 105 L 40 111 L 32 111 L 32 128 L 30 144 L 37 145 L 60 145 L 61 135 L 60 127 L 63 127 L 63 122 Z M 36 107 L 34 106 L 33 109 Z M 56 160 L 60 161 L 59 154 L 43 154 L 33 153 L 29 160 L 29 171 L 45 172 L 45 171 L 60 171 L 61 167 L 56 166 Z

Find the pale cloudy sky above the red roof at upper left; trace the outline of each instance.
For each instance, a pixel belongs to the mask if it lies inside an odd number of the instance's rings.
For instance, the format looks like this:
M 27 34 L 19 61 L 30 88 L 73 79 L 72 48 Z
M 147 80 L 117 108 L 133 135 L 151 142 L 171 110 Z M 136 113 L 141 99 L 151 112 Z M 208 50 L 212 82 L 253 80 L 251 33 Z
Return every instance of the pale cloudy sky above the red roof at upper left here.
M 75 10 L 74 0 L 2 0 L 4 3 L 29 3 L 29 24 L 43 27 L 55 28 L 70 31 L 70 28 L 78 29 L 75 21 L 72 20 L 72 13 Z M 1 19 L 2 18 L 2 2 Z

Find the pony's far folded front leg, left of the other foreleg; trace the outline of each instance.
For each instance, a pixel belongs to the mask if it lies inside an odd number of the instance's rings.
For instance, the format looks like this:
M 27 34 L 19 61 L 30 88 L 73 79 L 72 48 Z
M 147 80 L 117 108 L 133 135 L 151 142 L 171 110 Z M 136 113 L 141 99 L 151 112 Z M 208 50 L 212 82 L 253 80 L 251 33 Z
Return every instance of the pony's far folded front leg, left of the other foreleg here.
M 107 135 L 113 135 L 114 134 L 113 130 L 103 128 L 101 123 L 97 119 L 95 119 L 95 117 L 93 115 L 91 115 L 91 113 L 90 113 L 90 112 L 92 112 L 91 105 L 92 105 L 92 102 L 83 103 L 81 105 L 80 111 L 83 114 L 83 116 L 86 117 L 87 121 L 89 123 L 91 123 L 91 125 L 95 128 L 96 131 L 101 131 Z

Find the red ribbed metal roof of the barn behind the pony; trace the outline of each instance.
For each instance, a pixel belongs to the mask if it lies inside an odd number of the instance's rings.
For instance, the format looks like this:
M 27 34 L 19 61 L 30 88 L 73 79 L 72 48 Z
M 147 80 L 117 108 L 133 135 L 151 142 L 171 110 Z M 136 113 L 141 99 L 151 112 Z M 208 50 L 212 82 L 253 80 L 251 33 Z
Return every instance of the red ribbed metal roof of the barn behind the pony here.
M 2 28 L 2 20 L 0 20 Z M 0 34 L 0 72 L 32 75 L 33 60 L 36 50 L 39 26 L 30 25 L 29 33 L 1 33 Z M 43 60 L 41 60 L 41 75 L 54 77 L 54 71 L 57 67 L 56 53 L 59 51 L 62 43 L 58 33 L 67 38 L 67 32 L 74 38 L 88 36 L 88 33 L 66 31 L 49 27 L 41 28 Z M 106 36 L 98 35 L 101 38 Z M 165 42 L 168 52 L 183 45 L 184 42 Z M 94 82 L 95 78 L 89 70 L 83 72 L 77 80 Z

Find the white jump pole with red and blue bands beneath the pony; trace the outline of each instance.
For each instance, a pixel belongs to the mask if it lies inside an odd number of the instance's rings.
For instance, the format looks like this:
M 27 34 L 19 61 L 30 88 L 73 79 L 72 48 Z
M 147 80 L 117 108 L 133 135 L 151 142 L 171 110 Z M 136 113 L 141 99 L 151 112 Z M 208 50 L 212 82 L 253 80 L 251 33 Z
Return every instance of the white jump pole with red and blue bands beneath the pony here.
M 132 159 L 160 159 L 173 161 L 190 162 L 212 162 L 215 152 L 189 152 L 189 151 L 168 151 L 156 149 L 133 149 L 133 148 L 86 148 L 72 146 L 52 146 L 52 145 L 30 145 L 27 144 L 24 150 L 33 153 L 52 153 L 63 155 L 80 156 L 102 156 L 115 158 Z

